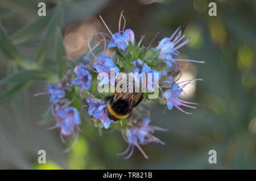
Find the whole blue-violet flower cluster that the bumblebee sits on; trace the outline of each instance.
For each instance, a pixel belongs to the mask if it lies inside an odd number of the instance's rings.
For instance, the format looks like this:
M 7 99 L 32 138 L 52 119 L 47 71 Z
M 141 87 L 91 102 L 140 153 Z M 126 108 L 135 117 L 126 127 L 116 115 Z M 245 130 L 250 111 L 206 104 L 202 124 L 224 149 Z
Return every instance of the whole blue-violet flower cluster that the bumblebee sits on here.
M 177 83 L 177 79 L 179 79 L 182 71 L 180 62 L 203 63 L 203 61 L 179 58 L 180 53 L 177 50 L 190 40 L 187 39 L 181 42 L 185 35 L 182 35 L 180 27 L 170 37 L 164 37 L 160 40 L 156 47 L 148 46 L 145 48 L 142 45 L 144 36 L 137 43 L 134 32 L 131 29 L 125 30 L 126 20 L 123 12 L 121 12 L 119 17 L 118 32 L 115 33 L 110 31 L 101 16 L 100 19 L 110 33 L 110 35 L 104 32 L 96 33 L 96 35 L 102 36 L 101 41 L 104 42 L 104 49 L 102 47 L 101 51 L 97 51 L 101 53 L 97 54 L 94 51 L 95 48 L 100 47 L 98 44 L 95 47 L 90 47 L 91 42 L 89 39 L 88 53 L 81 61 L 76 63 L 75 68 L 73 67 L 72 71 L 68 71 L 65 77 L 57 83 L 57 87 L 51 85 L 48 91 L 39 92 L 36 95 L 50 95 L 49 102 L 52 115 L 57 121 L 54 128 L 60 128 L 61 137 L 63 135 L 75 136 L 75 128 L 80 130 L 80 114 L 84 113 L 84 107 L 86 107 L 86 112 L 92 117 L 95 126 L 105 129 L 119 128 L 118 130 L 121 131 L 125 141 L 129 144 L 128 148 L 119 155 L 125 155 L 130 151 L 129 155 L 125 157 L 129 158 L 136 147 L 145 158 L 148 158 L 141 145 L 150 142 L 164 144 L 153 133 L 154 131 L 166 131 L 166 129 L 150 125 L 148 114 L 147 116 L 142 116 L 142 113 L 139 114 L 141 112 L 139 110 L 146 106 L 141 100 L 143 98 L 150 100 L 149 96 L 154 94 L 156 89 L 160 89 L 160 95 L 156 98 L 156 100 L 159 100 L 159 103 L 165 103 L 168 110 L 172 110 L 175 107 L 181 112 L 191 114 L 191 112 L 183 110 L 181 106 L 196 108 L 195 105 L 197 103 L 181 100 L 179 95 L 181 92 L 185 94 L 184 87 L 191 83 L 191 81 L 199 81 L 201 79 L 193 78 Z M 123 27 L 121 28 L 122 19 Z M 109 52 L 106 50 L 109 48 L 115 48 L 117 51 L 110 56 L 106 53 Z M 104 75 L 111 77 L 112 71 L 114 71 L 114 79 L 111 81 L 111 78 L 107 79 Z M 118 117 L 118 119 L 113 119 L 112 116 L 109 116 L 110 113 L 113 114 L 113 105 L 110 100 L 115 98 L 115 91 L 112 95 L 108 96 L 109 98 L 106 98 L 104 94 L 97 91 L 97 87 L 115 87 L 118 83 L 118 73 L 132 73 L 135 77 L 139 78 L 140 83 L 142 82 L 143 76 L 146 76 L 147 91 L 142 93 L 143 96 L 140 97 L 141 100 L 138 100 L 137 104 L 128 98 L 128 94 L 122 92 L 122 96 L 127 100 L 129 99 L 132 107 L 130 108 L 130 112 L 122 115 L 120 107 L 126 104 L 119 102 L 119 107 L 116 110 L 121 112 L 121 116 L 114 112 L 114 116 Z M 156 74 L 157 76 L 155 77 L 148 73 Z M 143 86 L 142 83 L 140 85 Z M 117 97 L 119 98 L 119 96 Z M 129 106 L 127 104 L 125 108 Z M 113 124 L 117 124 L 118 127 L 113 127 L 112 122 Z

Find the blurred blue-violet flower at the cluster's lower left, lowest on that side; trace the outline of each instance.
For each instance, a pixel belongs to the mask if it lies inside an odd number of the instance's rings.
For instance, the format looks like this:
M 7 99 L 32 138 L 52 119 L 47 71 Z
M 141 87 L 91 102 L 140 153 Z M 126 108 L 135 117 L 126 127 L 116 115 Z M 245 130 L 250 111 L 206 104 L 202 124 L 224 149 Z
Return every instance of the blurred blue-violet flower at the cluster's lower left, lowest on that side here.
M 75 126 L 81 124 L 79 111 L 75 107 L 67 107 L 56 112 L 56 116 L 60 118 L 56 123 L 56 127 L 60 127 L 61 134 L 75 135 Z

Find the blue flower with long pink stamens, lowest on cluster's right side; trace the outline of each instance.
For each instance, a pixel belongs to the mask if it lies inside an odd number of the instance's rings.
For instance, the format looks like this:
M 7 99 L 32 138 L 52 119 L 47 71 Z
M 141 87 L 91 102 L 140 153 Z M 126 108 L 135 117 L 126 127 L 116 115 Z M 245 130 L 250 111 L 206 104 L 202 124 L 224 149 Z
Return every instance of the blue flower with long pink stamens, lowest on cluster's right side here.
M 164 96 L 164 98 L 167 99 L 167 108 L 168 108 L 168 110 L 172 110 L 173 107 L 176 107 L 181 112 L 184 112 L 187 114 L 192 114 L 191 112 L 186 112 L 179 107 L 179 106 L 185 106 L 185 107 L 189 107 L 189 108 L 196 108 L 193 106 L 189 106 L 187 104 L 197 104 L 197 103 L 187 102 L 185 100 L 179 99 L 178 96 L 180 95 L 180 93 L 182 91 L 183 90 L 180 89 L 177 84 L 174 84 L 172 89 L 169 89 L 164 92 L 163 96 Z

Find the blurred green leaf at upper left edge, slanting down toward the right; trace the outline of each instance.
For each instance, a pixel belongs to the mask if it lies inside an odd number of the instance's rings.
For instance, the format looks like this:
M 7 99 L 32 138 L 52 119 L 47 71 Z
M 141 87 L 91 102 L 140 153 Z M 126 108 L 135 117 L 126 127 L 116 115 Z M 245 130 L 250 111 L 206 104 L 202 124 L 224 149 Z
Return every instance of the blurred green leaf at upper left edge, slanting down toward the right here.
M 18 49 L 14 46 L 13 42 L 7 35 L 5 28 L 0 22 L 0 49 L 2 53 L 11 60 L 20 60 Z

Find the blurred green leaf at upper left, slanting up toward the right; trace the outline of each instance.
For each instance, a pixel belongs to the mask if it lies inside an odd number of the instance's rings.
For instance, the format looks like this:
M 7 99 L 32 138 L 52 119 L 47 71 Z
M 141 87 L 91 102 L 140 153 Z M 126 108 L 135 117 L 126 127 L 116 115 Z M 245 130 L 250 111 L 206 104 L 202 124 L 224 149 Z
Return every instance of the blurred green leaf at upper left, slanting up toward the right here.
M 20 44 L 27 40 L 30 40 L 32 37 L 37 35 L 39 32 L 43 31 L 47 27 L 51 18 L 53 16 L 53 10 L 47 12 L 47 16 L 41 16 L 37 18 L 34 22 L 27 24 L 26 26 L 21 27 L 18 31 L 11 35 L 11 39 L 14 44 Z

